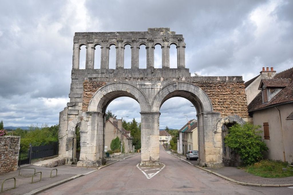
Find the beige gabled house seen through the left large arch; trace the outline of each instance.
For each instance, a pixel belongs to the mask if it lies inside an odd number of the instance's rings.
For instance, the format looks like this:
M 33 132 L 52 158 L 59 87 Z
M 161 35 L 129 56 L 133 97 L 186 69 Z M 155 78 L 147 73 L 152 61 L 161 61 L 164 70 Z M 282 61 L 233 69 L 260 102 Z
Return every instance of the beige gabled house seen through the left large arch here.
M 119 137 L 122 138 L 122 145 L 124 152 L 129 153 L 132 151 L 132 137 L 130 131 L 125 130 L 122 127 L 122 120 L 110 117 L 105 122 L 105 150 L 112 150 L 110 147 L 111 141 Z

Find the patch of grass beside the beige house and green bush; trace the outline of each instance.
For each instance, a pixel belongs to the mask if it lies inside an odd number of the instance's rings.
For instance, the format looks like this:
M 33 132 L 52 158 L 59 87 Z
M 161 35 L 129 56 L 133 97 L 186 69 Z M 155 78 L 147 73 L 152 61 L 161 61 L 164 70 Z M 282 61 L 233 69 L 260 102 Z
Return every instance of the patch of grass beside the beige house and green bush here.
M 246 167 L 246 172 L 260 177 L 268 178 L 280 178 L 280 177 L 291 177 L 293 176 L 293 168 L 287 167 L 287 163 L 274 160 L 262 160 L 253 165 Z M 283 171 L 282 168 L 290 169 Z

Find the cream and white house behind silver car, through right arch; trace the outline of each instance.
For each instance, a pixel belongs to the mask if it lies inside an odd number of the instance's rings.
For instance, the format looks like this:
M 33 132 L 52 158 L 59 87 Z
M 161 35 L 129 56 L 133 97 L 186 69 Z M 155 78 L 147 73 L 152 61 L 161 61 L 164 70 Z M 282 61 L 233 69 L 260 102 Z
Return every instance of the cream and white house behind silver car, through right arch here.
M 188 121 L 178 132 L 177 153 L 185 154 L 188 150 L 198 150 L 197 120 Z

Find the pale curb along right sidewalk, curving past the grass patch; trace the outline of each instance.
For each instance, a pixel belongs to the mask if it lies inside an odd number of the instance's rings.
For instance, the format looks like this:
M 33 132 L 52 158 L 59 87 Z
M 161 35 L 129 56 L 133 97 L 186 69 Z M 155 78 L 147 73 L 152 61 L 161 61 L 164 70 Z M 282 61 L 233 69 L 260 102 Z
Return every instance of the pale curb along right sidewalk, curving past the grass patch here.
M 169 153 L 167 153 L 167 154 L 169 154 Z M 178 156 L 175 156 L 175 155 L 172 155 L 172 154 L 170 154 L 170 155 L 171 156 L 174 156 L 176 158 L 179 158 Z M 179 159 L 182 160 L 182 161 L 184 161 L 185 163 L 188 163 L 188 164 L 190 164 L 190 165 L 192 165 L 194 167 L 197 167 L 197 168 L 199 168 L 201 170 L 204 170 L 206 172 L 212 173 L 214 175 L 217 175 L 218 177 L 222 177 L 223 179 L 226 179 L 226 180 L 228 180 L 230 182 L 234 182 L 236 184 L 243 185 L 243 186 L 254 186 L 254 187 L 290 187 L 290 186 L 293 186 L 293 184 L 252 184 L 252 183 L 240 182 L 240 181 L 237 181 L 235 179 L 231 179 L 229 177 L 226 177 L 224 175 L 221 175 L 221 174 L 219 174 L 217 172 L 213 172 L 213 171 L 208 170 L 208 169 L 205 169 L 203 167 L 200 167 L 200 166 L 197 166 L 197 165 L 193 165 L 190 162 L 188 162 L 187 160 L 184 160 L 182 158 L 179 158 Z

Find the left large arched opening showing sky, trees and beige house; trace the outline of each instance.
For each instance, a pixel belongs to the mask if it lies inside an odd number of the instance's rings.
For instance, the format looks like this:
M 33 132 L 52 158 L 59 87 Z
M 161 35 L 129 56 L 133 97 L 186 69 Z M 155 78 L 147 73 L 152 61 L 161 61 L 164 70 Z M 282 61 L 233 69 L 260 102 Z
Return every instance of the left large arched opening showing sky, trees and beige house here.
M 105 151 L 124 154 L 137 152 L 141 148 L 139 103 L 133 98 L 120 97 L 111 101 L 106 110 Z M 117 143 L 114 144 L 117 141 L 119 148 Z

